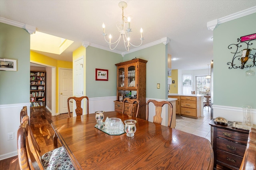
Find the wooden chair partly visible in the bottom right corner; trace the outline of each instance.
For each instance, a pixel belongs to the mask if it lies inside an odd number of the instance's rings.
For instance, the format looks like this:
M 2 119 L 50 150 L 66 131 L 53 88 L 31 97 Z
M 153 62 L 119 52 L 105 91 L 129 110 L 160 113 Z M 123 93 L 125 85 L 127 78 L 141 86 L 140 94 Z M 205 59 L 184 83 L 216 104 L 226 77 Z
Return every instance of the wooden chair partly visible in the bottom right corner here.
M 251 127 L 244 152 L 244 158 L 239 170 L 252 170 L 256 167 L 256 128 Z

